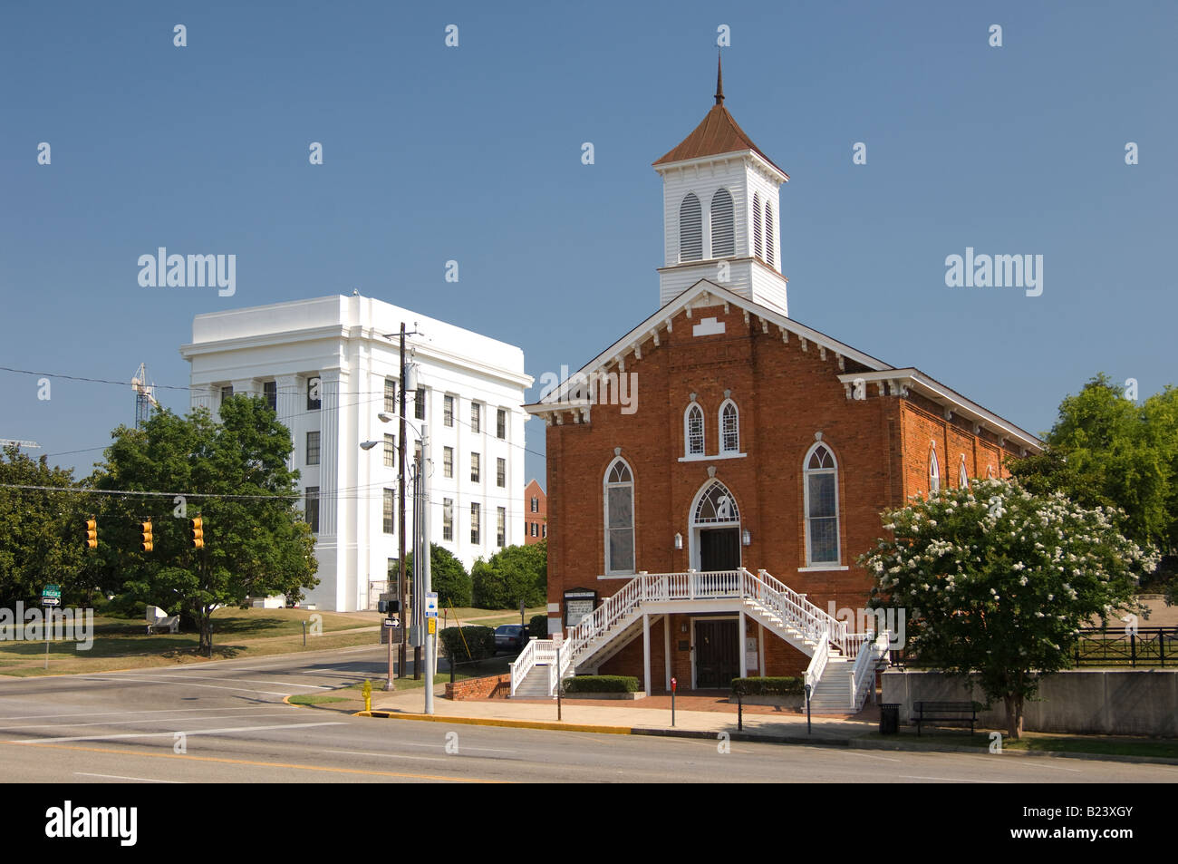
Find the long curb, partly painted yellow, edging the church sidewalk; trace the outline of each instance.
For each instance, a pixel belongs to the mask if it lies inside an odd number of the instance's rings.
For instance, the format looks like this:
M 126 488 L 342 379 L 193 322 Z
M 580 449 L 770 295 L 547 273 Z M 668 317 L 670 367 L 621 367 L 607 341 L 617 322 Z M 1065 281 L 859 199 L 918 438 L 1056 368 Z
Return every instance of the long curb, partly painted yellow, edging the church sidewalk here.
M 502 720 L 489 717 L 444 717 L 438 714 L 409 714 L 398 711 L 357 711 L 351 717 L 368 717 L 385 720 L 421 720 L 425 723 L 451 723 L 465 726 L 502 726 L 509 728 L 538 728 L 554 732 L 590 732 L 613 736 L 642 736 L 650 738 L 694 738 L 716 740 L 719 732 L 708 730 L 679 730 L 657 726 L 596 726 L 593 724 L 554 723 L 543 720 Z M 845 747 L 848 750 L 888 750 L 907 753 L 966 753 L 987 756 L 987 751 L 954 745 L 913 747 L 899 741 L 860 740 L 858 738 L 814 738 L 812 736 L 756 734 L 752 732 L 728 732 L 728 740 L 750 744 L 794 744 L 810 747 Z M 1088 759 L 1147 765 L 1178 765 L 1178 759 L 1160 756 L 1121 756 L 1104 753 L 1066 753 L 1053 750 L 1025 751 L 1005 750 L 1002 756 L 1048 759 Z

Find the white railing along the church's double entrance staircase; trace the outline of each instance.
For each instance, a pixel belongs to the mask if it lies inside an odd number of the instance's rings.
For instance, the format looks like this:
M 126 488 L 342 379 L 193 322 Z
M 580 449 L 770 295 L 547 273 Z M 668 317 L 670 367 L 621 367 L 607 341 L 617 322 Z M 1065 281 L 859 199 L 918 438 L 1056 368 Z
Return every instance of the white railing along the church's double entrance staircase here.
M 774 579 L 767 570 L 688 570 L 687 573 L 640 573 L 613 596 L 569 628 L 557 660 L 556 644 L 536 639 L 511 664 L 511 693 L 536 666 L 549 665 L 549 693 L 570 670 L 595 653 L 603 644 L 633 625 L 647 602 L 675 600 L 746 599 L 781 621 L 794 638 L 814 645 L 807 684 L 816 685 L 826 668 L 832 647 L 851 657 L 865 642 L 865 634 L 847 632 L 847 625 L 819 608 L 803 594 Z M 604 642 L 602 641 L 604 640 Z M 558 664 L 558 665 L 557 665 Z

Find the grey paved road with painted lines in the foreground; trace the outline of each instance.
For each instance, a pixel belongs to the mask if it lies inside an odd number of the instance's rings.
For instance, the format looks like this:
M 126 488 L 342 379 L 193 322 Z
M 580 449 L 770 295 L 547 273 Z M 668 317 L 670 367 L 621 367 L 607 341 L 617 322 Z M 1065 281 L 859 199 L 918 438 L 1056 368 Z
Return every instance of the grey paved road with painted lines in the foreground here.
M 0 679 L 0 780 L 1178 780 L 1178 767 L 1162 765 L 748 743 L 733 743 L 730 752 L 721 753 L 709 740 L 365 719 L 282 701 L 296 693 L 377 678 L 384 657 L 379 647 L 362 647 L 133 672 Z

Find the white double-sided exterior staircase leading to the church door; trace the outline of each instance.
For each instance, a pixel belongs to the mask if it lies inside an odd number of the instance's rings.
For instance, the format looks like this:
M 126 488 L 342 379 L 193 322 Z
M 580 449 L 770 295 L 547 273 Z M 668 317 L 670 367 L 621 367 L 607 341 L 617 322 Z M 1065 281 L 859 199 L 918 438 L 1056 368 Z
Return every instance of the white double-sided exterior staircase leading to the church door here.
M 532 639 L 511 664 L 511 698 L 555 698 L 558 681 L 596 670 L 637 637 L 643 615 L 717 609 L 743 612 L 810 658 L 806 682 L 813 712 L 859 711 L 887 657 L 886 632 L 848 633 L 845 622 L 766 570 L 641 573 L 565 639 Z

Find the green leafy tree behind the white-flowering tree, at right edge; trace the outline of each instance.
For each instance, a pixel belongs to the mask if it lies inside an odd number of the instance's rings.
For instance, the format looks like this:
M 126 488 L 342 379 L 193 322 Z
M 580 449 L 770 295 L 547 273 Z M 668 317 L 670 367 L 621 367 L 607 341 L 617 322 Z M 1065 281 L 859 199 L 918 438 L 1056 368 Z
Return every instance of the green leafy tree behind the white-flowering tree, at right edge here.
M 1137 404 L 1098 375 L 1060 403 L 1045 441 L 1041 455 L 1008 464 L 1014 477 L 1033 494 L 1059 492 L 1083 507 L 1124 510 L 1125 535 L 1162 550 L 1158 576 L 1169 582 L 1167 600 L 1178 602 L 1178 390 Z

